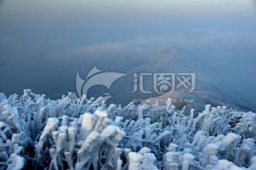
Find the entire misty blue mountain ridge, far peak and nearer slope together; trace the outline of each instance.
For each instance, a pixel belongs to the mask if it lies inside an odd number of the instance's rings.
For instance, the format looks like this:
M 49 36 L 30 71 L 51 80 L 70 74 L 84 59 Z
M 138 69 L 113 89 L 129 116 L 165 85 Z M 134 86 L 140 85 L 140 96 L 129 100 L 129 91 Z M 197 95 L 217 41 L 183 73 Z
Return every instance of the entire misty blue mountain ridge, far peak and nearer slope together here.
M 183 105 L 186 105 L 186 111 L 190 111 L 190 108 L 203 111 L 205 105 L 208 103 L 212 106 L 228 106 L 229 108 L 231 107 L 242 111 L 256 111 L 256 104 L 250 101 L 250 98 L 246 98 L 246 96 L 242 96 L 242 94 L 236 94 L 229 89 L 223 89 L 220 86 L 213 86 L 210 82 L 207 82 L 208 84 L 202 82 L 202 80 L 206 80 L 205 78 L 210 78 L 211 75 L 207 74 L 206 69 L 210 69 L 208 65 L 212 62 L 214 61 L 207 59 L 201 61 L 199 57 L 195 57 L 189 52 L 186 52 L 186 50 L 175 46 L 158 47 L 156 49 L 140 52 L 137 55 L 123 56 L 118 59 L 102 57 L 101 59 L 95 60 L 95 62 L 85 64 L 83 64 L 84 62 L 82 62 L 82 60 L 75 60 L 75 67 L 70 68 L 68 71 L 66 71 L 67 69 L 64 70 L 68 76 L 66 77 L 66 75 L 63 74 L 63 79 L 65 78 L 63 82 L 64 85 L 66 84 L 62 87 L 63 90 L 60 91 L 60 84 L 55 83 L 55 89 L 50 89 L 50 91 L 55 94 L 55 98 L 58 98 L 62 94 L 66 95 L 66 91 L 75 91 L 75 74 L 79 72 L 79 74 L 85 78 L 90 69 L 97 66 L 97 68 L 101 69 L 103 72 L 108 71 L 127 74 L 126 77 L 122 77 L 114 82 L 110 91 L 107 91 L 108 89 L 102 90 L 98 87 L 90 89 L 90 94 L 88 94 L 89 98 L 103 96 L 102 91 L 109 93 L 112 98 L 107 101 L 107 104 L 118 103 L 125 106 L 137 99 L 145 100 L 147 98 L 170 97 L 176 100 L 193 99 L 193 103 L 175 103 L 175 106 L 178 108 L 182 108 Z M 81 66 L 76 67 L 76 63 L 80 63 Z M 70 74 L 71 69 L 73 69 L 73 74 Z M 78 69 L 80 69 L 80 71 L 78 71 Z M 85 69 L 87 69 L 86 72 Z M 211 67 L 211 69 L 213 69 L 214 72 L 214 68 Z M 62 73 L 63 72 L 61 72 L 61 74 L 53 73 L 53 75 L 54 77 L 57 74 L 58 76 L 62 76 Z M 174 91 L 171 94 L 161 95 L 154 92 L 152 78 L 145 78 L 144 89 L 152 93 L 143 94 L 139 90 L 132 93 L 134 87 L 133 75 L 137 74 L 139 76 L 140 73 L 196 73 L 196 90 L 192 93 L 188 93 L 186 89 L 180 88 L 178 91 Z M 219 73 L 220 72 L 218 72 L 218 74 Z M 221 84 L 222 81 L 223 80 L 218 83 Z M 154 99 L 152 101 L 154 101 Z M 141 103 L 139 100 L 135 102 L 137 105 L 139 103 Z

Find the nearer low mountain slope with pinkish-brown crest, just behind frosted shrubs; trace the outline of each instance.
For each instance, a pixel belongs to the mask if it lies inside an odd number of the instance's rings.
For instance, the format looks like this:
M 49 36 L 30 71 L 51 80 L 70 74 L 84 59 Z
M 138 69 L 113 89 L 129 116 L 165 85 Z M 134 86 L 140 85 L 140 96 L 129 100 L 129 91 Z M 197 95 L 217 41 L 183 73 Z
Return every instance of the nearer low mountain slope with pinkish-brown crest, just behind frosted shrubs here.
M 156 98 L 149 98 L 141 104 L 154 105 L 156 102 L 159 105 L 164 105 L 168 98 L 172 98 L 171 101 L 175 103 L 176 108 L 181 109 L 186 106 L 185 113 L 188 114 L 191 108 L 197 112 L 204 110 L 206 103 L 213 107 L 216 106 L 227 106 L 233 110 L 242 111 L 255 111 L 256 105 L 248 101 L 247 98 L 235 94 L 233 91 L 220 89 L 216 86 L 202 86 L 196 88 L 193 93 L 185 91 L 174 91 L 171 94 L 164 94 Z

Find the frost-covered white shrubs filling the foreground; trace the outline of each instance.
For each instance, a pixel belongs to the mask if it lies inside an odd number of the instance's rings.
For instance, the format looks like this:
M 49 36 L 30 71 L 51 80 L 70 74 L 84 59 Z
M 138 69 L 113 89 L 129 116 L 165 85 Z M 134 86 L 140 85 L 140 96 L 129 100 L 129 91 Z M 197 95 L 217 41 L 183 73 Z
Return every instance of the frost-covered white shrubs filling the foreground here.
M 256 169 L 256 114 L 0 94 L 0 169 Z

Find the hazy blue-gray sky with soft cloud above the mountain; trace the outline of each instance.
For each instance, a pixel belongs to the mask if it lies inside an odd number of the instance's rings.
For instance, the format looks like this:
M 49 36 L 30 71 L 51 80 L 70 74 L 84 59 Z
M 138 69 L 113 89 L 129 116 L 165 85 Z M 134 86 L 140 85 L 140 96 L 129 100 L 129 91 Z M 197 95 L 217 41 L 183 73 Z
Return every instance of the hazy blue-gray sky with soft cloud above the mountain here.
M 68 91 L 65 83 L 73 84 L 81 62 L 91 68 L 166 45 L 196 56 L 204 81 L 255 94 L 255 0 L 0 1 L 0 91 L 6 94 Z

